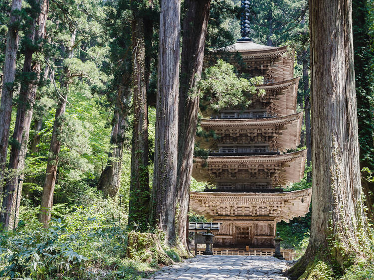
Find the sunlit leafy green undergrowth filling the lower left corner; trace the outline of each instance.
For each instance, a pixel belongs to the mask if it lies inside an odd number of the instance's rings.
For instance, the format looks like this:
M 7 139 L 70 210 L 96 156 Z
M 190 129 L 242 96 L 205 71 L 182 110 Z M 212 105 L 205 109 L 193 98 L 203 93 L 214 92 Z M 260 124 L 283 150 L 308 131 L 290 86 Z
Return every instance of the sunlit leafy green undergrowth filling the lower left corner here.
M 17 229 L 0 233 L 0 279 L 148 277 L 160 265 L 127 257 L 127 216 L 121 215 L 119 227 L 118 210 L 116 201 L 97 199 L 66 210 L 44 229 L 37 221 L 38 209 L 22 207 Z M 173 250 L 163 249 L 180 261 Z

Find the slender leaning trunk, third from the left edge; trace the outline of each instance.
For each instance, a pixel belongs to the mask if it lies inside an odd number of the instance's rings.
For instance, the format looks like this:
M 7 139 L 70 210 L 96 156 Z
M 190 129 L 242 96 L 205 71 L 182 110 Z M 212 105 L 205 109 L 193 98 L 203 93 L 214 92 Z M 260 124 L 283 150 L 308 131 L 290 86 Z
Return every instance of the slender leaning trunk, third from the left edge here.
M 74 42 L 75 42 L 76 29 L 71 34 L 70 46 L 68 48 L 68 58 L 72 58 L 74 55 Z M 58 164 L 58 153 L 60 152 L 61 140 L 60 135 L 62 133 L 63 117 L 65 114 L 67 97 L 69 92 L 69 84 L 71 81 L 72 73 L 67 65 L 64 66 L 62 73 L 61 93 L 58 94 L 58 107 L 54 116 L 53 132 L 51 138 L 51 144 L 49 147 L 47 168 L 43 186 L 43 194 L 40 203 L 40 215 L 39 221 L 43 223 L 44 227 L 47 227 L 51 220 L 51 210 L 53 205 L 53 192 L 56 183 L 57 164 Z

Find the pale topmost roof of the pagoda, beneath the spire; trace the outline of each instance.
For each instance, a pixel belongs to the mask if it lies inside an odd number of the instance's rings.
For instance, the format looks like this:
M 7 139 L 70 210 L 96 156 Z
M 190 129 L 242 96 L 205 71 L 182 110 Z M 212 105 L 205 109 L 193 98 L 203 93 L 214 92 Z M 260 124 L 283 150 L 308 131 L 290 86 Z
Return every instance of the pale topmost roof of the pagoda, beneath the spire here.
M 281 55 L 287 51 L 287 46 L 282 47 L 271 47 L 265 46 L 261 44 L 256 44 L 253 41 L 239 41 L 232 45 L 218 48 L 213 52 L 221 53 L 221 52 L 240 52 L 240 53 L 253 53 L 253 54 L 279 54 Z

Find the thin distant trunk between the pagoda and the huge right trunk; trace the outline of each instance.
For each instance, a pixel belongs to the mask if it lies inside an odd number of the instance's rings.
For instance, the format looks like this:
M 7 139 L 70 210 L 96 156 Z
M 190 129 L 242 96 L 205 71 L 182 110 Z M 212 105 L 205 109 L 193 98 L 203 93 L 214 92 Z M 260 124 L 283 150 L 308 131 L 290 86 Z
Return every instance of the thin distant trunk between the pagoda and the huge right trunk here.
M 303 61 L 303 92 L 304 92 L 304 115 L 305 115 L 305 143 L 307 146 L 307 166 L 312 163 L 312 128 L 310 123 L 310 91 L 308 74 L 308 50 L 302 52 Z M 312 172 L 307 173 L 307 182 L 312 180 Z

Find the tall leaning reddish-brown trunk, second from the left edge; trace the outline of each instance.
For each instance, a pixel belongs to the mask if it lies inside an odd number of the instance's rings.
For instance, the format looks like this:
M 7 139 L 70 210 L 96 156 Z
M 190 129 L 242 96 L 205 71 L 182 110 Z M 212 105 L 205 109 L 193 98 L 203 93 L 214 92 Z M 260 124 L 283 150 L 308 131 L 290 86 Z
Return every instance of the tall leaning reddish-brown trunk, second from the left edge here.
M 42 41 L 45 37 L 48 0 L 36 1 L 36 5 L 40 10 L 37 18 L 32 21 L 27 35 L 27 39 L 32 43 Z M 38 45 L 38 48 L 38 51 L 40 51 L 42 46 Z M 40 75 L 40 61 L 38 59 L 32 60 L 34 52 L 35 48 L 26 47 L 22 70 L 24 80 L 21 83 L 19 91 L 19 101 L 9 157 L 9 169 L 16 171 L 16 174 L 5 186 L 6 195 L 2 201 L 2 213 L 0 215 L 0 223 L 5 228 L 8 228 L 9 225 L 13 225 L 14 227 L 18 219 L 17 212 L 19 211 L 20 196 L 22 193 L 22 170 L 24 169 L 24 160 L 27 152 L 37 81 Z M 14 193 L 17 195 L 14 196 Z

